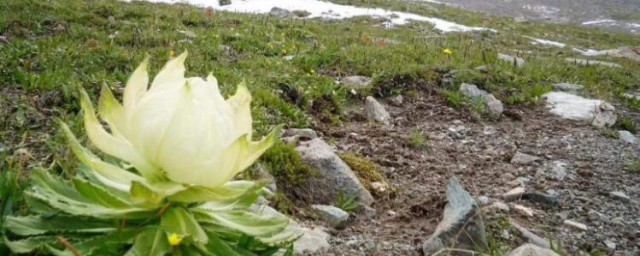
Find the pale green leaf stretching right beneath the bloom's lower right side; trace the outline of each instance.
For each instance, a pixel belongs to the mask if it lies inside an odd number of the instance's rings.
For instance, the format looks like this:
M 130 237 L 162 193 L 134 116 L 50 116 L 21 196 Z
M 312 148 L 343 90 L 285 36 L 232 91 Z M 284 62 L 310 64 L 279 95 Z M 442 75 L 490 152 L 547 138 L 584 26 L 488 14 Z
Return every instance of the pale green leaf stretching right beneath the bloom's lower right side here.
M 289 218 L 281 215 L 254 214 L 247 211 L 213 212 L 194 210 L 199 222 L 220 225 L 256 237 L 269 237 L 285 230 Z

